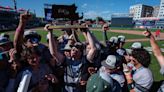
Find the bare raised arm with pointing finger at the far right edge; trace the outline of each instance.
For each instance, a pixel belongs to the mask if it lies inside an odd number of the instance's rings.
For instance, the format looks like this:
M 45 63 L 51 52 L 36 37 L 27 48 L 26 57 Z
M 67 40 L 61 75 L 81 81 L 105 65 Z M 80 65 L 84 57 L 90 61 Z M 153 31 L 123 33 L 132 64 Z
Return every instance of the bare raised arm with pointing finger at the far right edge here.
M 157 58 L 158 63 L 161 67 L 164 67 L 164 56 L 150 31 L 144 31 L 143 34 L 150 39 L 150 44 L 152 46 L 152 50 L 154 52 L 154 56 Z

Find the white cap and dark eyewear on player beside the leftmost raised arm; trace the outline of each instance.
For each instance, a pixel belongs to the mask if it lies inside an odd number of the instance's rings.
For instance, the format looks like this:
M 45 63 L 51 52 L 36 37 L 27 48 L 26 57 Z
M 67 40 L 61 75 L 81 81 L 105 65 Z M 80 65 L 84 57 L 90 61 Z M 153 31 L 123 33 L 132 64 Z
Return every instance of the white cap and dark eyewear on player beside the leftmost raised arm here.
M 32 43 L 36 44 L 40 42 L 41 36 L 34 30 L 27 30 L 24 32 L 24 39 L 30 39 Z

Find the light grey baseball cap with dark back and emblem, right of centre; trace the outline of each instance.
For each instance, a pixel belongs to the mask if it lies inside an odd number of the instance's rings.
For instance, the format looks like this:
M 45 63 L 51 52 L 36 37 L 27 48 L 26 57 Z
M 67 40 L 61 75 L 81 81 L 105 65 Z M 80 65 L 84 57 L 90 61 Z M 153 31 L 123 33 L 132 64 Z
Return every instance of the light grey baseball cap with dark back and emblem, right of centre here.
M 108 55 L 106 60 L 101 62 L 101 65 L 108 67 L 110 69 L 115 69 L 122 64 L 121 57 L 118 55 Z

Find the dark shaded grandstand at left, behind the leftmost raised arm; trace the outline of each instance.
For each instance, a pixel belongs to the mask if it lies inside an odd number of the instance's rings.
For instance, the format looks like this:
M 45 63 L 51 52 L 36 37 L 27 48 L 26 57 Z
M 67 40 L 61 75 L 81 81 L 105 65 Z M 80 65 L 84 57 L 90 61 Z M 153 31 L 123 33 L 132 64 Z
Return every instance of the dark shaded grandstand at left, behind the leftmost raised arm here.
M 0 9 L 0 31 L 14 30 L 19 23 L 19 15 L 23 12 L 7 11 Z M 35 14 L 32 14 L 32 19 L 26 24 L 26 28 L 33 28 L 42 26 L 42 19 L 37 18 Z

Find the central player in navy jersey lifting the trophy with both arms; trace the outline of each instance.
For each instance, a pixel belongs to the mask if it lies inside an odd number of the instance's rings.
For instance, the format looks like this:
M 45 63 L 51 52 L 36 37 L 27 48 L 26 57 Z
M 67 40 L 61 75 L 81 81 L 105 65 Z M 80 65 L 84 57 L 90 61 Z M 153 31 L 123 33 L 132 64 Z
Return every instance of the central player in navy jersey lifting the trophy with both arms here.
M 87 75 L 89 62 L 93 62 L 93 57 L 95 55 L 96 49 L 93 42 L 93 38 L 88 29 L 82 29 L 82 32 L 87 35 L 89 45 L 91 49 L 86 56 L 83 56 L 83 46 L 81 43 L 75 43 L 71 49 L 71 59 L 65 58 L 63 54 L 57 51 L 57 43 L 52 38 L 52 30 L 48 29 L 50 25 L 45 26 L 45 30 L 49 34 L 49 47 L 53 58 L 56 58 L 58 63 L 65 63 L 64 71 L 64 92 L 81 92 L 84 89 L 79 89 L 79 86 L 86 85 L 86 80 L 84 80 L 81 85 L 81 79 L 83 75 Z M 88 62 L 89 61 L 89 62 Z M 87 79 L 87 78 L 85 78 Z M 85 91 L 85 90 L 84 90 Z

